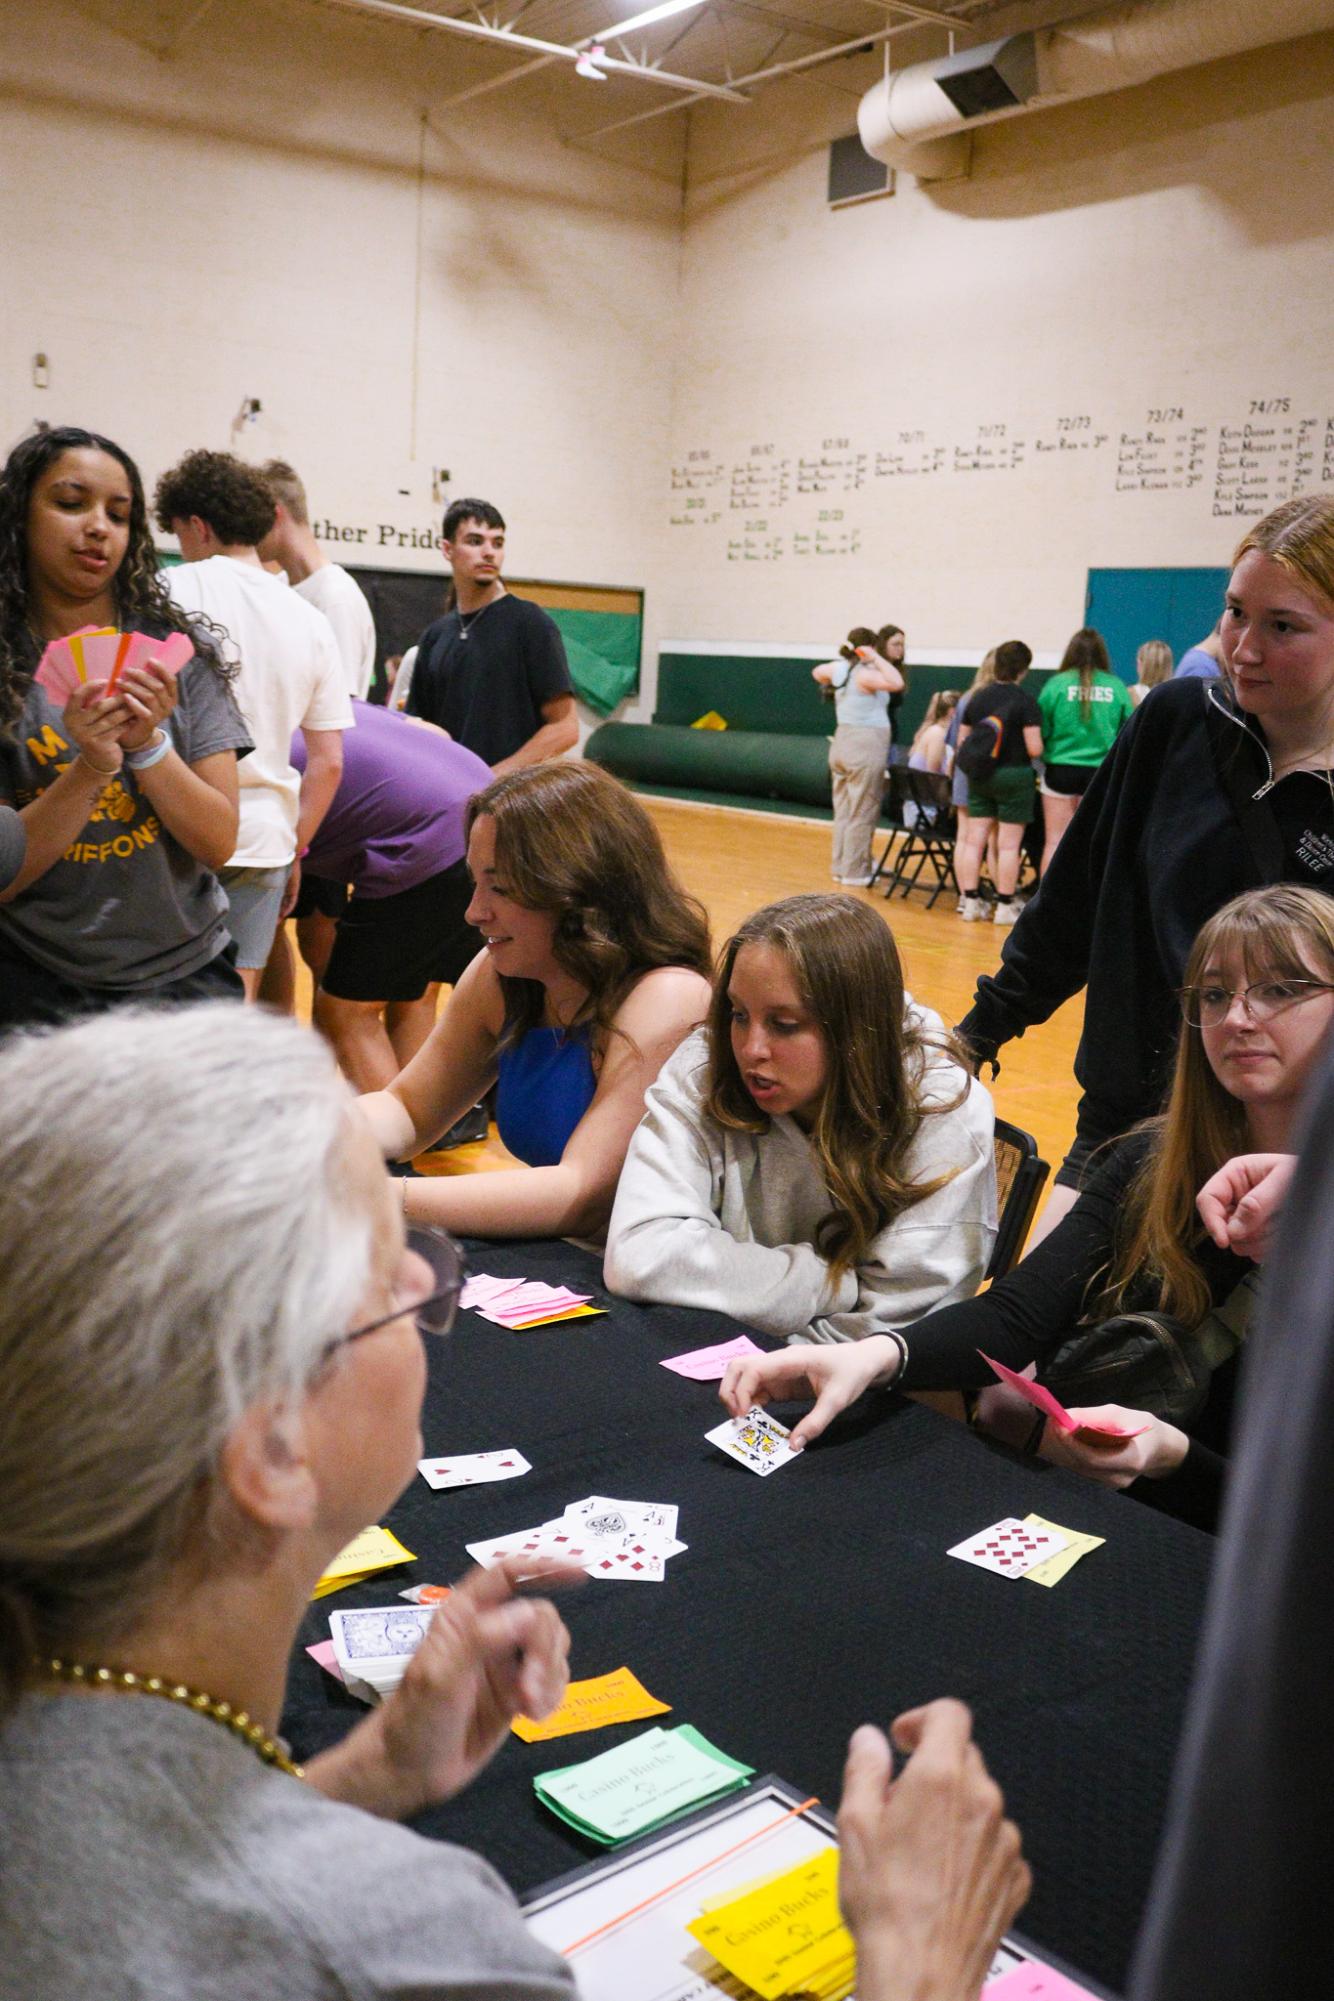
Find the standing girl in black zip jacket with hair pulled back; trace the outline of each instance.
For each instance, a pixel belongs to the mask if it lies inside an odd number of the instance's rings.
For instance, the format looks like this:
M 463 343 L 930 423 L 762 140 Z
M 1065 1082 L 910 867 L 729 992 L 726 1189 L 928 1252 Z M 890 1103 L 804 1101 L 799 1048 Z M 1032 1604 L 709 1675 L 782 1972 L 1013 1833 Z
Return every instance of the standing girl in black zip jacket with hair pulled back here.
M 1224 680 L 1166 682 L 1134 712 L 960 1023 L 994 1061 L 1088 988 L 1046 1229 L 1092 1151 L 1162 1103 L 1200 924 L 1266 882 L 1334 892 L 1334 496 L 1290 500 L 1242 540 L 1222 648 Z

